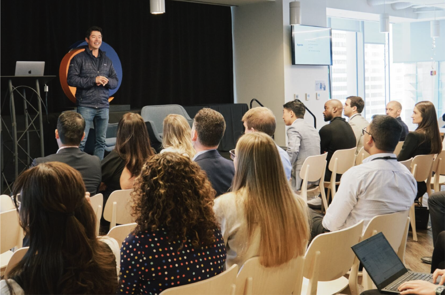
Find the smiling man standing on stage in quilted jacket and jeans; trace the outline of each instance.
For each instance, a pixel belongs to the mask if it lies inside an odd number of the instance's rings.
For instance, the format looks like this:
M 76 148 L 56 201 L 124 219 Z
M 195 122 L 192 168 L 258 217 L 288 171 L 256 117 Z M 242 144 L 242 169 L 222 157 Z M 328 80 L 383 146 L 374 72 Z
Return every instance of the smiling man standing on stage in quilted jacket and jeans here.
M 67 82 L 76 87 L 77 112 L 85 119 L 85 138 L 79 146 L 85 148 L 91 124 L 94 124 L 96 141 L 94 155 L 104 158 L 105 135 L 109 115 L 109 89 L 117 87 L 117 74 L 111 59 L 100 50 L 102 44 L 102 29 L 91 27 L 86 31 L 85 51 L 73 57 L 69 64 Z

